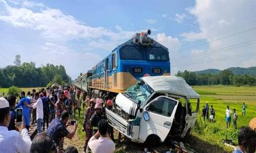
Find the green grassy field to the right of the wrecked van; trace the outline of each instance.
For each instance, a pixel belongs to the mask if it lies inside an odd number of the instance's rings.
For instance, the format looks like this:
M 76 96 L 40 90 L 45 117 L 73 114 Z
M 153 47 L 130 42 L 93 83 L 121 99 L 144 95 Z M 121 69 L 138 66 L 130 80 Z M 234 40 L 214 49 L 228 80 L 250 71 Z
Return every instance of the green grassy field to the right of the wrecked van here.
M 256 87 L 233 87 L 233 86 L 195 86 L 193 87 L 198 94 L 200 94 L 200 113 L 202 112 L 203 105 L 208 102 L 209 105 L 213 105 L 216 116 L 215 122 L 211 123 L 207 120 L 203 120 L 198 115 L 198 120 L 195 128 L 193 129 L 193 135 L 204 140 L 205 142 L 216 145 L 223 150 L 225 148 L 222 140 L 225 138 L 233 140 L 237 143 L 238 130 L 233 128 L 231 122 L 230 128 L 226 128 L 225 122 L 225 110 L 227 105 L 230 106 L 233 112 L 233 108 L 236 108 L 238 114 L 237 128 L 242 126 L 248 126 L 250 120 L 256 117 Z M 242 104 L 245 103 L 248 107 L 246 109 L 246 116 L 242 116 Z

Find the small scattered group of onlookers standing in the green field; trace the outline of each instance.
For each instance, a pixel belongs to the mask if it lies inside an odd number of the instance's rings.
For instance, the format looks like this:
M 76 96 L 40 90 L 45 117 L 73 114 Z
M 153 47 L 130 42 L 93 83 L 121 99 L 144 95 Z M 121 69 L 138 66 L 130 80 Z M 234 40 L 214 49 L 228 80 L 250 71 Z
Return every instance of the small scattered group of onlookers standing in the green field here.
M 242 114 L 241 114 L 242 116 L 243 115 L 245 116 L 246 108 L 247 108 L 247 106 L 243 103 L 243 105 L 242 105 Z M 233 115 L 233 127 L 235 129 L 237 129 L 238 115 L 236 113 L 236 108 L 234 108 L 233 112 L 232 112 L 232 110 L 227 105 L 227 109 L 226 109 L 226 112 L 225 112 L 225 122 L 227 124 L 227 128 L 230 128 L 232 115 Z M 202 117 L 204 117 L 204 121 L 206 119 L 206 120 L 209 120 L 209 122 L 214 122 L 215 110 L 213 108 L 213 105 L 211 105 L 211 108 L 209 107 L 208 102 L 206 102 L 206 105 L 203 105 Z

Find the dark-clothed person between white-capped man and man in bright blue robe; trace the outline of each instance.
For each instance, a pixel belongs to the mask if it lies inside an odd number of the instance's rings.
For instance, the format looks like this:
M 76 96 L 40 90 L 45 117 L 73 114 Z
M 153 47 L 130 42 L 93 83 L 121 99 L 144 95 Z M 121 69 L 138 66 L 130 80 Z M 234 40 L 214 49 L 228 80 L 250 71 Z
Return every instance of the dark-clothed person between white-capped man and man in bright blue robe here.
M 15 112 L 15 103 L 16 103 L 16 97 L 15 96 L 9 96 L 7 98 L 7 101 L 9 102 L 10 105 L 10 116 L 11 116 L 11 120 L 10 120 L 10 124 L 8 126 L 8 130 L 15 130 L 15 119 L 16 119 L 16 112 Z

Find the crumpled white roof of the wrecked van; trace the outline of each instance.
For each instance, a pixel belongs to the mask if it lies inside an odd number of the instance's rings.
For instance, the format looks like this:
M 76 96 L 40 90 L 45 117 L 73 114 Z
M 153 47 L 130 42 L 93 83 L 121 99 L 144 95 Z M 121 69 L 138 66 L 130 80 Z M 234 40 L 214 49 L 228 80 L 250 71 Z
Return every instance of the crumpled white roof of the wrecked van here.
M 199 94 L 182 77 L 157 76 L 141 78 L 156 92 L 167 92 L 188 98 L 200 98 Z

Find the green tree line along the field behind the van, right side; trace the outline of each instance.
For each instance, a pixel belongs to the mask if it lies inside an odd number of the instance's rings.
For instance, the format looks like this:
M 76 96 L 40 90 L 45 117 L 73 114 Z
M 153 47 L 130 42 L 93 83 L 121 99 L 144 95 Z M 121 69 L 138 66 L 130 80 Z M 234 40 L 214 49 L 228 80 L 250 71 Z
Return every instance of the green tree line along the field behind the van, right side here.
M 256 76 L 234 75 L 230 70 L 223 70 L 218 74 L 196 74 L 193 71 L 178 71 L 176 74 L 182 77 L 189 85 L 256 85 Z

